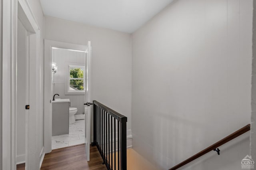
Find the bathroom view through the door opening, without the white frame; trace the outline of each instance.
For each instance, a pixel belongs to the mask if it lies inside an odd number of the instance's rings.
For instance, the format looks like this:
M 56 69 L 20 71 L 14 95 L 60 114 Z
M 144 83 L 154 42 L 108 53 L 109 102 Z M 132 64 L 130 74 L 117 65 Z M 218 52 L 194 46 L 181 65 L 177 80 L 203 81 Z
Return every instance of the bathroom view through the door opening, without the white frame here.
M 85 142 L 85 55 L 81 50 L 52 47 L 52 150 Z M 67 99 L 69 116 L 58 113 L 65 106 L 59 99 Z

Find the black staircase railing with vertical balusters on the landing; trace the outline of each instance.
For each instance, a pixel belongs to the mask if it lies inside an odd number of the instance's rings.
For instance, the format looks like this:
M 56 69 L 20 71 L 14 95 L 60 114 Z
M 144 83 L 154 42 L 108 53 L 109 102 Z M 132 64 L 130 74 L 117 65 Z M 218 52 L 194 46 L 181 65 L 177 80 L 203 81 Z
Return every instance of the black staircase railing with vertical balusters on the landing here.
M 108 170 L 126 170 L 127 117 L 93 101 L 93 143 L 96 145 Z

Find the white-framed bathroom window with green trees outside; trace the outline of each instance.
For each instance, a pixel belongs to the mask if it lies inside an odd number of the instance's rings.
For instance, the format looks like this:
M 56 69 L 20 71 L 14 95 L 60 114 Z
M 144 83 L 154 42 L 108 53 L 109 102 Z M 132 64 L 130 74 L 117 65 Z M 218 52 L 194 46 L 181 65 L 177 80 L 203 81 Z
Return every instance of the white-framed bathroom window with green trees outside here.
M 81 65 L 68 66 L 68 93 L 85 91 L 84 67 Z

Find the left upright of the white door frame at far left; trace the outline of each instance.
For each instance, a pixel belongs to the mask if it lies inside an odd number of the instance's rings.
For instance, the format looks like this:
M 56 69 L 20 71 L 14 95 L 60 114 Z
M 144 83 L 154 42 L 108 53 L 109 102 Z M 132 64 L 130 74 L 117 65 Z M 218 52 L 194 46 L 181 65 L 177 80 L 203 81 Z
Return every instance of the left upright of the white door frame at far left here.
M 13 169 L 14 162 L 14 143 L 12 126 L 14 113 L 12 112 L 12 102 L 11 102 L 11 76 L 12 76 L 12 57 L 13 48 L 12 45 L 12 22 L 11 22 L 11 11 L 13 0 L 2 0 L 2 169 Z M 13 14 L 13 13 L 12 13 Z M 14 15 L 15 16 L 15 15 Z M 12 36 L 12 37 L 11 37 Z M 14 35 L 15 37 L 15 35 Z M 12 44 L 11 44 L 12 43 Z M 3 138 L 4 137 L 4 138 Z M 12 138 L 11 138 L 12 137 Z M 16 156 L 16 155 L 15 155 Z

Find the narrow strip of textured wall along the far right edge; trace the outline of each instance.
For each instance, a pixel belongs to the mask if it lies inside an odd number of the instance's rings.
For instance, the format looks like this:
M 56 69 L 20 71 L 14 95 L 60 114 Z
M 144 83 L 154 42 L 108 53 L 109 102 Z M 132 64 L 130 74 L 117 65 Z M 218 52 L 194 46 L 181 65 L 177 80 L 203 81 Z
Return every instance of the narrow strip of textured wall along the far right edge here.
M 256 1 L 253 3 L 251 156 L 256 160 Z

